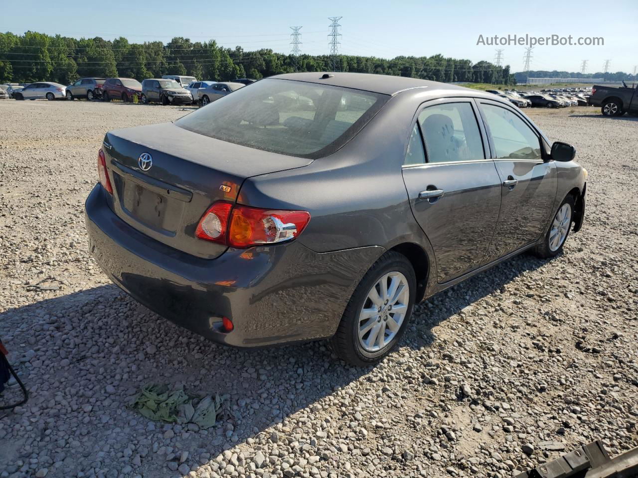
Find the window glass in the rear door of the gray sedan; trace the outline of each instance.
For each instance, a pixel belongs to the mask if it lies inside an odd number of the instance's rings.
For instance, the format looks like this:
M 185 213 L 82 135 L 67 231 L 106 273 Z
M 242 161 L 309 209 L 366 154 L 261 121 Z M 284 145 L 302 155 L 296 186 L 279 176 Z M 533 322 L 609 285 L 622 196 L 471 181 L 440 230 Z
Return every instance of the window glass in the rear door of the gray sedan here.
M 470 103 L 442 103 L 419 115 L 428 163 L 485 159 L 479 125 Z

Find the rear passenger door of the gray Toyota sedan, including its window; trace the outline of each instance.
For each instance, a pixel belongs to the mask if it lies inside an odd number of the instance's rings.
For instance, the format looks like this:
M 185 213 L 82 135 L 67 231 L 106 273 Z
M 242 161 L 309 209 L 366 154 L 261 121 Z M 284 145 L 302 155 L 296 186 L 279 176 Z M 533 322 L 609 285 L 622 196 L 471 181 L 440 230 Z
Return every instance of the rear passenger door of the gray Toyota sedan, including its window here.
M 410 206 L 434 249 L 440 283 L 484 263 L 498 221 L 501 181 L 477 118 L 471 99 L 427 102 L 403 166 Z

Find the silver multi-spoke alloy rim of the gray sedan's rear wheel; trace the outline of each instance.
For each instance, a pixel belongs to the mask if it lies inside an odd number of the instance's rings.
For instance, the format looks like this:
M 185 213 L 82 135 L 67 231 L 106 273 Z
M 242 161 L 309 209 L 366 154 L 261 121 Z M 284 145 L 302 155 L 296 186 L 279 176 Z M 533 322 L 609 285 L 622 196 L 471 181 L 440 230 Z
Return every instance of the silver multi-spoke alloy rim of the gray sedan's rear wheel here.
M 367 293 L 359 312 L 359 343 L 368 352 L 386 347 L 408 312 L 410 285 L 401 272 L 385 273 Z

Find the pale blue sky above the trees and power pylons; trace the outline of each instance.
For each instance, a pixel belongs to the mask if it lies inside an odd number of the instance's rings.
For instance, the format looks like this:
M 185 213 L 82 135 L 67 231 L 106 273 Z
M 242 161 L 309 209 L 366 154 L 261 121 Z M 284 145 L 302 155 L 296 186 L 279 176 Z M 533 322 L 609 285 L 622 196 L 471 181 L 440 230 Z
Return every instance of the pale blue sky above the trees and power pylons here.
M 200 4 L 202 6 L 193 6 Z M 226 7 L 224 7 L 226 5 Z M 95 7 L 95 13 L 90 12 Z M 86 10 L 84 10 L 84 8 Z M 29 3 L 33 15 L 2 15 L 0 31 L 27 30 L 75 37 L 124 36 L 132 42 L 184 36 L 215 39 L 225 47 L 272 48 L 290 52 L 290 26 L 302 25 L 301 50 L 329 51 L 327 17 L 341 16 L 340 52 L 394 57 L 433 55 L 493 61 L 496 47 L 477 45 L 487 36 L 603 37 L 604 46 L 537 46 L 531 69 L 631 73 L 638 65 L 638 1 L 558 3 L 537 1 L 513 5 L 503 1 L 125 1 Z M 505 64 L 523 70 L 523 46 L 501 46 Z

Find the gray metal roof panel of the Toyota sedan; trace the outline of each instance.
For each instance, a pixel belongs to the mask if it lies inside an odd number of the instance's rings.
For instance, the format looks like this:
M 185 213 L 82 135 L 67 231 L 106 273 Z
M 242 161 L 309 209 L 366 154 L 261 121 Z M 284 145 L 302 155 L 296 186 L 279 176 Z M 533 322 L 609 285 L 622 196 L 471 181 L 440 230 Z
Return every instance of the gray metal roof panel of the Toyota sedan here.
M 323 75 L 330 75 L 329 78 L 322 78 Z M 420 80 L 419 78 L 408 78 L 406 76 L 372 75 L 371 73 L 325 73 L 323 71 L 310 73 L 286 73 L 284 75 L 270 76 L 281 80 L 297 80 L 299 82 L 320 83 L 322 85 L 339 86 L 358 90 L 371 91 L 381 94 L 394 95 L 401 91 L 414 88 L 430 88 L 438 91 L 449 91 L 451 94 L 459 91 L 467 92 L 469 88 L 464 88 L 450 83 L 433 82 L 430 80 Z M 479 90 L 470 90 L 477 96 L 484 96 L 487 93 Z M 493 96 L 490 94 L 490 96 Z M 485 98 L 489 98 L 485 96 Z

